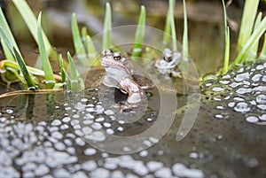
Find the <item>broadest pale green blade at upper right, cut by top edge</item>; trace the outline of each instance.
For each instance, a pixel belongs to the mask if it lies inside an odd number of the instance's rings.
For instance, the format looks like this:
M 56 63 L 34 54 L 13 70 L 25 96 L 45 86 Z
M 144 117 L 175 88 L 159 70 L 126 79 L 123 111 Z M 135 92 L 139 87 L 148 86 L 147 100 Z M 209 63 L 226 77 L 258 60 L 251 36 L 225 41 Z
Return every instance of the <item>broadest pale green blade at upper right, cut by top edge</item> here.
M 241 27 L 239 30 L 239 42 L 237 49 L 238 51 L 248 41 L 248 38 L 252 34 L 252 29 L 254 27 L 254 19 L 257 13 L 258 5 L 260 0 L 246 0 L 244 11 L 241 19 Z

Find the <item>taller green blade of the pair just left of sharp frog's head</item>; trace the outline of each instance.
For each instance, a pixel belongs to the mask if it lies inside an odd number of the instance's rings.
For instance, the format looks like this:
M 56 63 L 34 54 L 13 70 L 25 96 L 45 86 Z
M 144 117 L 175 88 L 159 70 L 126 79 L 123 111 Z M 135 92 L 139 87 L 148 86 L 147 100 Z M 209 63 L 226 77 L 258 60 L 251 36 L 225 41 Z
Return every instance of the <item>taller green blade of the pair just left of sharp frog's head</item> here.
M 74 50 L 77 55 L 78 60 L 81 62 L 83 66 L 88 65 L 88 59 L 86 58 L 86 50 L 84 48 L 84 45 L 82 43 L 82 37 L 79 32 L 79 27 L 77 24 L 77 21 L 75 19 L 75 15 L 73 13 L 72 15 L 72 21 L 71 21 L 71 27 L 72 27 L 72 35 L 73 35 L 73 42 L 74 42 Z

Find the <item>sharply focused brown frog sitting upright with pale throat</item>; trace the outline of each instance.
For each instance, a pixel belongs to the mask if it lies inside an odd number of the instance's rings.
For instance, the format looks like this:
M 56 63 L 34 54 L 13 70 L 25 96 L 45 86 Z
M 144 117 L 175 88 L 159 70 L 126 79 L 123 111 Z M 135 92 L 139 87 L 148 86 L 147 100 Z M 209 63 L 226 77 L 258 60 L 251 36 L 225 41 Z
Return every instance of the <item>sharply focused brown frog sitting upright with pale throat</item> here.
M 103 83 L 129 95 L 126 104 L 121 105 L 121 110 L 130 109 L 145 98 L 145 91 L 132 77 L 134 70 L 128 58 L 121 56 L 119 52 L 106 50 L 101 58 L 101 65 L 106 69 Z

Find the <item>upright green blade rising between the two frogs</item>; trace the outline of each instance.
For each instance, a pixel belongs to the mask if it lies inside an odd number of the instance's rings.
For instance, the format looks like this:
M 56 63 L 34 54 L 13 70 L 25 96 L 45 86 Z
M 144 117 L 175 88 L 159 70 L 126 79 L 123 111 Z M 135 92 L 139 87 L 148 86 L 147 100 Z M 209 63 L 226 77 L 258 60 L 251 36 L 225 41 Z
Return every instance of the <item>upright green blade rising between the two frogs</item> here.
M 142 5 L 137 23 L 137 31 L 135 35 L 132 58 L 137 58 L 141 56 L 142 45 L 145 36 L 145 18 L 146 18 L 145 6 Z

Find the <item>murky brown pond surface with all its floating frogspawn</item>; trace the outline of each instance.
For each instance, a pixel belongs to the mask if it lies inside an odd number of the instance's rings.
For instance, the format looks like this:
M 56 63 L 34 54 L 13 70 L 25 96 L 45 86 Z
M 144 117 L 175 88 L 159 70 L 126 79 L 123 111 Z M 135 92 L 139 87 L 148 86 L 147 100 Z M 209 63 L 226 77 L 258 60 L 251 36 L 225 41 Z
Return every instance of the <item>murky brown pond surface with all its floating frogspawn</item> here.
M 265 177 L 265 67 L 240 66 L 206 81 L 191 132 L 176 142 L 184 113 L 177 114 L 164 137 L 133 154 L 100 151 L 89 141 L 144 132 L 156 121 L 160 101 L 151 99 L 141 119 L 127 123 L 101 103 L 98 89 L 26 95 L 24 103 L 23 96 L 2 98 L 0 177 Z

